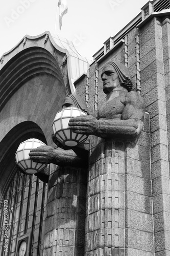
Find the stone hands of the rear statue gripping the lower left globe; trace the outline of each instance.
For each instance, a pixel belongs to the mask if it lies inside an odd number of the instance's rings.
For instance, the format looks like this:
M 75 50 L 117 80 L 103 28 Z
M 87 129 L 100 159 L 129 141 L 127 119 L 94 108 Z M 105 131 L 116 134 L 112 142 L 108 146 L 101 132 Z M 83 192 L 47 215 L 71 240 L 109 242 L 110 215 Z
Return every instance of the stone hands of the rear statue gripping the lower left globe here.
M 48 164 L 53 162 L 56 152 L 52 146 L 39 146 L 30 150 L 29 156 L 34 162 Z

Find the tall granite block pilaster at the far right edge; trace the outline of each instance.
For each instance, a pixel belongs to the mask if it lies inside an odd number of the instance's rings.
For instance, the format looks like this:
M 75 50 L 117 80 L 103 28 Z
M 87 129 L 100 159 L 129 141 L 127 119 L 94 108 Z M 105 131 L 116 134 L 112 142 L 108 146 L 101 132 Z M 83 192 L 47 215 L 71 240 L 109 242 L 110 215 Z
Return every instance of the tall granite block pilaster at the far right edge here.
M 140 28 L 141 94 L 151 120 L 155 256 L 170 253 L 169 18 Z

